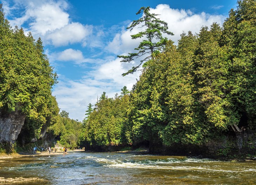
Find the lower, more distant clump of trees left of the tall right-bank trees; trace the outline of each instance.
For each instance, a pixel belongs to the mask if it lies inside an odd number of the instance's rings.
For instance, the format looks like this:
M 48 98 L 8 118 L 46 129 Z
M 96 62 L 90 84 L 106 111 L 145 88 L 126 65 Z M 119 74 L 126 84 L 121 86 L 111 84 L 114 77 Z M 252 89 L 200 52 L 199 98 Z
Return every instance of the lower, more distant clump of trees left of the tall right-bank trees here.
M 89 145 L 117 145 L 131 142 L 127 128 L 129 96 L 107 98 L 103 92 L 95 109 L 83 121 L 81 140 Z M 88 111 L 91 107 L 88 106 Z M 87 111 L 87 112 L 88 112 Z

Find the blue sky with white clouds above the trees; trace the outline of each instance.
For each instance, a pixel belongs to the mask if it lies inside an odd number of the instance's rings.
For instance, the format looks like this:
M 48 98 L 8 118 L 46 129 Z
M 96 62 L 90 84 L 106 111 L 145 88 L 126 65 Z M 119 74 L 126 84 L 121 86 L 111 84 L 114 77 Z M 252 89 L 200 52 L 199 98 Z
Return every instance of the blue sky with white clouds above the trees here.
M 140 71 L 122 77 L 133 63 L 120 63 L 117 55 L 133 52 L 140 40 L 132 40 L 139 28 L 126 28 L 140 7 L 167 22 L 174 36 L 164 35 L 175 44 L 180 34 L 199 33 L 202 26 L 220 25 L 228 17 L 236 0 L 0 0 L 5 17 L 12 27 L 42 38 L 45 54 L 58 74 L 53 87 L 60 111 L 82 121 L 89 103 L 106 92 L 111 98 L 129 90 L 139 79 Z

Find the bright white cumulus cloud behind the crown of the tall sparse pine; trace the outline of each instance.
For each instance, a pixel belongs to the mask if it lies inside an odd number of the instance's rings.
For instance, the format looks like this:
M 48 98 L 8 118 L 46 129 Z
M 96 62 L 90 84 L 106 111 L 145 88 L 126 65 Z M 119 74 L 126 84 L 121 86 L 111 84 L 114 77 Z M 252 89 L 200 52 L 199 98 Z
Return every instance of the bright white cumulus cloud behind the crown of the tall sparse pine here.
M 199 33 L 202 26 L 210 26 L 213 22 L 222 24 L 225 17 L 222 15 L 210 15 L 205 12 L 194 14 L 191 10 L 173 9 L 169 5 L 160 4 L 156 8 L 150 9 L 151 13 L 160 14 L 159 19 L 168 23 L 168 30 L 174 33 L 174 36 L 163 35 L 173 40 L 176 44 L 180 39 L 180 34 L 185 31 Z M 139 17 L 138 17 L 139 19 Z M 142 28 L 134 28 L 132 31 L 125 28 L 121 33 L 117 33 L 113 40 L 109 42 L 106 49 L 115 54 L 123 52 L 132 52 L 141 40 L 132 40 L 132 34 L 138 33 Z

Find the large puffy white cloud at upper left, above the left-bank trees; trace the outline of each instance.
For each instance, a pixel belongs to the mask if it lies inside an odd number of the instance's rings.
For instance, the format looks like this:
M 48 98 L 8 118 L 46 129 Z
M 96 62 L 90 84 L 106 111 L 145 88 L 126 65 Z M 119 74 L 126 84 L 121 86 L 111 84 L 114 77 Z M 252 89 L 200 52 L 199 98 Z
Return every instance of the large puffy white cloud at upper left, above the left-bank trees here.
M 92 33 L 92 26 L 70 21 L 66 1 L 24 0 L 21 4 L 14 0 L 14 6 L 10 7 L 6 3 L 6 9 L 11 12 L 18 5 L 25 9 L 25 13 L 20 17 L 12 17 L 12 26 L 25 27 L 25 31 L 31 31 L 34 36 L 42 37 L 46 43 L 55 47 L 86 42 L 86 37 Z

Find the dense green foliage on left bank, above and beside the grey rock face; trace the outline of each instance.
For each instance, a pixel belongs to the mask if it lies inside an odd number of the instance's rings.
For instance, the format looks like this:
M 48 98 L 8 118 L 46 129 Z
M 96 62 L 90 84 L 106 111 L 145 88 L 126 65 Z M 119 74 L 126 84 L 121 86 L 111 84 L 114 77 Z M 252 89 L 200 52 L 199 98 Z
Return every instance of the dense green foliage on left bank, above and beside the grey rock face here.
M 26 115 L 23 143 L 38 138 L 59 112 L 52 96 L 57 76 L 43 52 L 40 38 L 35 41 L 22 28 L 11 28 L 0 5 L 0 109 Z

